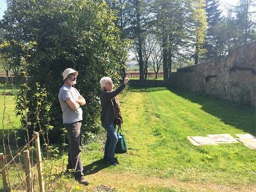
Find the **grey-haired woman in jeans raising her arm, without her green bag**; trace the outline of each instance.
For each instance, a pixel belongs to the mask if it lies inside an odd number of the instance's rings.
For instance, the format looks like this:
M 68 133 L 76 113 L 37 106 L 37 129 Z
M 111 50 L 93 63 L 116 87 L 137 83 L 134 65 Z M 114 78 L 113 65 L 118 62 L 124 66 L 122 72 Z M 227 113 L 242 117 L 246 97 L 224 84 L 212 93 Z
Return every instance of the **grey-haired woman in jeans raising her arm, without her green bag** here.
M 100 120 L 102 127 L 107 132 L 104 160 L 113 166 L 117 166 L 117 160 L 115 158 L 115 148 L 118 141 L 116 135 L 116 124 L 122 124 L 122 114 L 120 111 L 118 94 L 124 90 L 128 78 L 125 77 L 124 83 L 122 83 L 116 90 L 113 90 L 113 82 L 109 77 L 102 77 L 100 79 L 100 87 L 103 91 L 100 93 L 100 105 L 101 115 Z M 119 118 L 120 122 L 116 122 Z

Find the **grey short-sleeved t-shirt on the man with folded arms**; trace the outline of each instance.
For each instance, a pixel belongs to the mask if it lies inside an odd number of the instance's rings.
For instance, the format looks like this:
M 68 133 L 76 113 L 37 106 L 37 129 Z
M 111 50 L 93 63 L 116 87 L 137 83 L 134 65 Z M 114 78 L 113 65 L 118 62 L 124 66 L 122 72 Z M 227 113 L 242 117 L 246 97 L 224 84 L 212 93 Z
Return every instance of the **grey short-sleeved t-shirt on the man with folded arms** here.
M 59 92 L 59 100 L 60 106 L 63 113 L 63 124 L 72 124 L 74 122 L 79 122 L 83 120 L 83 111 L 81 108 L 76 109 L 76 111 L 72 110 L 70 106 L 68 106 L 66 100 L 73 98 L 77 100 L 80 96 L 80 93 L 76 88 L 67 86 L 63 84 L 60 88 Z

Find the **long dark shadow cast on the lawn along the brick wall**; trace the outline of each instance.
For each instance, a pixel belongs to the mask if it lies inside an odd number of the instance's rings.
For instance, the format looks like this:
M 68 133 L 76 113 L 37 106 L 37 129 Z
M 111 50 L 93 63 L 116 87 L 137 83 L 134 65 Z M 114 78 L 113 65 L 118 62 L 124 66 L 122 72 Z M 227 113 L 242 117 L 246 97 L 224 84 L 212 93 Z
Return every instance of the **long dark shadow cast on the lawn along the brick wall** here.
M 168 88 L 168 90 L 184 99 L 202 105 L 203 111 L 220 118 L 225 124 L 256 135 L 256 110 L 252 106 L 239 106 L 230 100 L 216 99 L 205 95 L 205 93 L 195 93 L 177 88 Z

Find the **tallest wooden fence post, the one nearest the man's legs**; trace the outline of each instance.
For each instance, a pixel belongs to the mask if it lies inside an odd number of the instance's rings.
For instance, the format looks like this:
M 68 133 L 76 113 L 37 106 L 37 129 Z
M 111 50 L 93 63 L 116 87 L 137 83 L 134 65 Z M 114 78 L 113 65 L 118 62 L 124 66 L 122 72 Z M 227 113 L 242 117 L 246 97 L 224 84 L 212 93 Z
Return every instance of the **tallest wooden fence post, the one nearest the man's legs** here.
M 42 168 L 42 156 L 41 156 L 39 133 L 35 132 L 34 136 L 35 136 L 35 147 L 36 147 L 36 160 L 38 162 L 37 169 L 38 169 L 39 187 L 40 187 L 40 192 L 45 192 L 45 190 L 44 190 L 44 174 L 43 174 L 43 168 Z

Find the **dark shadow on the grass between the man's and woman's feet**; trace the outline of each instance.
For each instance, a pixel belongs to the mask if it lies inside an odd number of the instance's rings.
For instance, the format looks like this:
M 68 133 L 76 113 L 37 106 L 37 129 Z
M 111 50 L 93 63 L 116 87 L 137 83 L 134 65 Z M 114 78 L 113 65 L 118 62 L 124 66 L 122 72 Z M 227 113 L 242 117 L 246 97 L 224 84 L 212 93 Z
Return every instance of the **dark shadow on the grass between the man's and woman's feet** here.
M 84 175 L 92 175 L 94 173 L 107 168 L 110 164 L 106 163 L 104 159 L 99 159 L 91 164 L 84 166 Z

